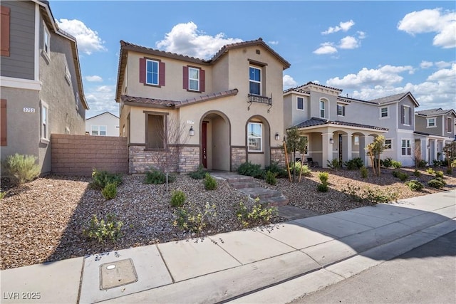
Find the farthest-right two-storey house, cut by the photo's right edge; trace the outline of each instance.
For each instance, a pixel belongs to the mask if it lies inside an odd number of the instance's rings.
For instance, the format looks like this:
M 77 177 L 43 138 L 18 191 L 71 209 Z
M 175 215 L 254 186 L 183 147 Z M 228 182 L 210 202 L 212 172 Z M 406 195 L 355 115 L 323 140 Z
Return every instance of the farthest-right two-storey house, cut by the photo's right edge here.
M 455 140 L 455 110 L 430 109 L 415 112 L 415 136 L 424 142 L 423 159 L 432 164 L 443 160 L 443 147 Z

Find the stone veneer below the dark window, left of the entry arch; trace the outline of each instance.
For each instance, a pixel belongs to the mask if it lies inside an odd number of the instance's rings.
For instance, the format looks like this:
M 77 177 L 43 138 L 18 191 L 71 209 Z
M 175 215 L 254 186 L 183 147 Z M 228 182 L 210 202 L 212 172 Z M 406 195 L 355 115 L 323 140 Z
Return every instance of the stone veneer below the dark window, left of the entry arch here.
M 132 145 L 129 150 L 129 173 L 144 174 L 150 169 L 170 172 L 194 172 L 199 166 L 199 146 L 170 146 L 169 150 L 145 150 L 144 146 Z M 179 155 L 177 155 L 179 153 Z

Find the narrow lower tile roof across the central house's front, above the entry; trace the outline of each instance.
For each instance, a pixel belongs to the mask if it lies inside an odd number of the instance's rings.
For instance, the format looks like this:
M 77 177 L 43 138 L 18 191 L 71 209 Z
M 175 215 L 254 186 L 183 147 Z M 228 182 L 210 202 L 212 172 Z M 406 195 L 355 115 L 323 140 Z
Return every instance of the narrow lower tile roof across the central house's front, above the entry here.
M 214 100 L 218 98 L 224 98 L 227 96 L 237 95 L 238 90 L 232 89 L 218 93 L 212 93 L 207 95 L 200 95 L 197 98 L 190 98 L 185 100 L 163 100 L 155 98 L 142 98 L 128 95 L 121 95 L 120 99 L 123 103 L 133 103 L 133 105 L 148 105 L 152 108 L 181 108 L 186 105 L 192 105 L 194 103 L 202 103 L 204 101 Z

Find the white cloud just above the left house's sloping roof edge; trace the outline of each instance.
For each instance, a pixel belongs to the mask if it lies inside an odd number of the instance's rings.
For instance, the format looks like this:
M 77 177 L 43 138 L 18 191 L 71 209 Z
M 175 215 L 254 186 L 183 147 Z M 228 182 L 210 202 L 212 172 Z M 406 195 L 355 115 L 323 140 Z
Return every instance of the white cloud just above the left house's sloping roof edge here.
M 60 19 L 60 21 L 56 20 L 56 23 L 59 28 L 76 38 L 79 51 L 87 55 L 90 55 L 92 52 L 106 51 L 105 46 L 103 46 L 105 41 L 102 41 L 98 33 L 88 28 L 82 21 L 76 19 Z

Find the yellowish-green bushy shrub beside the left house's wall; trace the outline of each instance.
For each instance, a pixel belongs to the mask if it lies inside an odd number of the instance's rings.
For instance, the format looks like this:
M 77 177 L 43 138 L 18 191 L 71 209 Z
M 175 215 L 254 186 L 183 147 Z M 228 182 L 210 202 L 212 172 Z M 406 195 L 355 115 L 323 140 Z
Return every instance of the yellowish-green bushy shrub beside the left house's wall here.
M 36 156 L 14 154 L 8 155 L 1 162 L 2 175 L 6 175 L 11 179 L 13 184 L 24 184 L 36 179 L 40 174 L 40 167 L 36 164 Z

